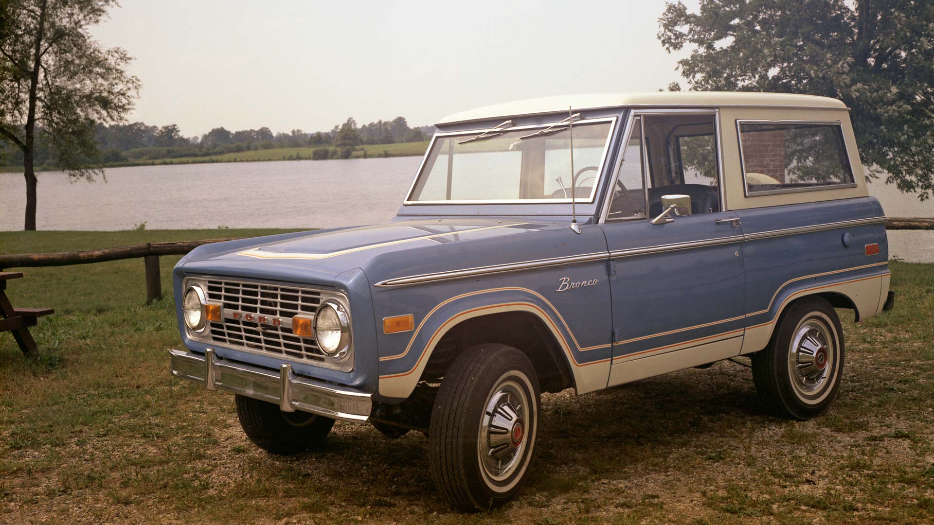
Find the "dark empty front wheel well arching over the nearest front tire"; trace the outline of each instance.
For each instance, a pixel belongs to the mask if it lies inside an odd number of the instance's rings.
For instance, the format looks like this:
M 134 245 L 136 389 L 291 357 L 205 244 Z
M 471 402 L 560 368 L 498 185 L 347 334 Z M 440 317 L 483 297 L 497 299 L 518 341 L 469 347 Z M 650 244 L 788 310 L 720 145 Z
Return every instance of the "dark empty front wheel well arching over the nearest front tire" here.
M 421 381 L 434 382 L 466 348 L 500 343 L 518 348 L 535 367 L 542 391 L 573 387 L 573 376 L 564 353 L 545 322 L 530 312 L 503 312 L 466 319 L 451 327 L 434 347 Z

